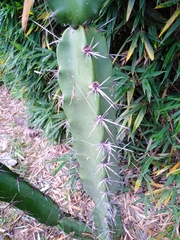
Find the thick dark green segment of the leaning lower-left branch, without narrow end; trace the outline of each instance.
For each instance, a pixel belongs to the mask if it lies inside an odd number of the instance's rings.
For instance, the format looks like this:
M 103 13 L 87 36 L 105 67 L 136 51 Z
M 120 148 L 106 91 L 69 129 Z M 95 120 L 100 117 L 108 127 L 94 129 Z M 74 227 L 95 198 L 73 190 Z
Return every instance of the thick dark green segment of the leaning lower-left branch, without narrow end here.
M 21 180 L 19 175 L 2 164 L 0 164 L 0 200 L 11 203 L 47 225 L 57 225 L 61 217 L 58 206 L 49 197 L 32 188 Z

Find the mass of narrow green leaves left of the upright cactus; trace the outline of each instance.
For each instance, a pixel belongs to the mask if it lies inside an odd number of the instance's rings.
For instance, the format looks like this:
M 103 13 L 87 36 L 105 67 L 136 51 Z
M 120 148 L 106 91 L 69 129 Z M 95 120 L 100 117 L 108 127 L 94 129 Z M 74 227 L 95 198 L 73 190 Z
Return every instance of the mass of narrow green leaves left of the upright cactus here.
M 51 142 L 60 142 L 65 136 L 62 126 L 66 116 L 58 92 L 55 49 L 59 38 L 54 32 L 61 32 L 62 28 L 56 28 L 56 23 L 49 19 L 47 5 L 42 2 L 34 6 L 24 36 L 20 20 L 22 6 L 23 1 L 0 3 L 2 80 L 14 97 L 25 102 L 29 124 L 43 129 Z

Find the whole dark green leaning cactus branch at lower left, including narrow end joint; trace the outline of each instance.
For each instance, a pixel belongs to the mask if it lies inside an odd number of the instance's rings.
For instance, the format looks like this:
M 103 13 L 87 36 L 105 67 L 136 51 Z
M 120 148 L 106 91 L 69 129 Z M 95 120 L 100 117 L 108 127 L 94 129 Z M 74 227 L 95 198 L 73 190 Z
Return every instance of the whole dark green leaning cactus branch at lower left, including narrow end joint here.
M 72 219 L 72 216 L 60 210 L 51 198 L 33 188 L 3 164 L 0 164 L 0 200 L 25 211 L 40 223 L 59 225 L 67 234 L 74 232 L 75 237 L 86 234 L 93 236 L 92 230 L 85 223 Z

